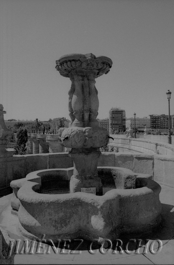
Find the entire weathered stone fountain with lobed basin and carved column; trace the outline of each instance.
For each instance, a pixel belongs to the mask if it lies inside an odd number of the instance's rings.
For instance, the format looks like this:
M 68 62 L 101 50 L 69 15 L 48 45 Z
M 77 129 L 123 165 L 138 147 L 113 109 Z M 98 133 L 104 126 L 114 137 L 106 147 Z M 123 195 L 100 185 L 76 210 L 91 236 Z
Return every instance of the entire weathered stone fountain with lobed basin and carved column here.
M 74 167 L 31 172 L 11 182 L 12 213 L 18 215 L 23 236 L 102 242 L 121 233 L 149 232 L 160 224 L 161 187 L 153 176 L 121 167 L 97 167 L 99 148 L 107 145 L 109 133 L 96 120 L 95 79 L 111 66 L 111 59 L 93 54 L 68 54 L 56 61 L 56 69 L 72 82 L 72 127 L 60 128 L 58 134 L 60 144 L 71 148 Z

